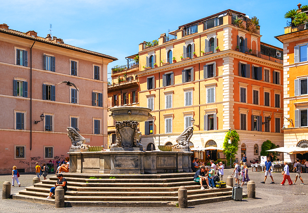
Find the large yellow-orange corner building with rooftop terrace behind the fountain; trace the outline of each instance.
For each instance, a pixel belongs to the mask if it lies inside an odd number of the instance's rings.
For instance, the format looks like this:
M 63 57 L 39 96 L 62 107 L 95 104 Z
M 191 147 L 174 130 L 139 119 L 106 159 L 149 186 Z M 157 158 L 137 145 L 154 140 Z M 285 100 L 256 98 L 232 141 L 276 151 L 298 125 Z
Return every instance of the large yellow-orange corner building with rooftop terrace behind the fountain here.
M 265 140 L 283 145 L 282 49 L 262 43 L 249 23 L 225 10 L 139 45 L 139 106 L 153 115 L 140 123 L 144 146 L 174 144 L 192 119 L 194 147 L 222 147 L 229 129 L 240 135 L 239 159 L 258 158 Z

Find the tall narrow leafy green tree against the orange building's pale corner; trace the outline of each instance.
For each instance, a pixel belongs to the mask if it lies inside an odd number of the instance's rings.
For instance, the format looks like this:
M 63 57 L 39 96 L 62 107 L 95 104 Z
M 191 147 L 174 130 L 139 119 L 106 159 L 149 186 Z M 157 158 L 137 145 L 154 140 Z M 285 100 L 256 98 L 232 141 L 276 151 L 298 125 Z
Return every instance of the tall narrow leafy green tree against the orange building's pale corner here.
M 228 143 L 228 140 L 231 140 L 231 144 Z M 227 165 L 230 165 L 230 158 L 232 158 L 232 161 L 235 160 L 235 155 L 237 154 L 238 151 L 239 140 L 240 136 L 235 130 L 226 133 L 222 148 L 224 149 L 225 152 Z

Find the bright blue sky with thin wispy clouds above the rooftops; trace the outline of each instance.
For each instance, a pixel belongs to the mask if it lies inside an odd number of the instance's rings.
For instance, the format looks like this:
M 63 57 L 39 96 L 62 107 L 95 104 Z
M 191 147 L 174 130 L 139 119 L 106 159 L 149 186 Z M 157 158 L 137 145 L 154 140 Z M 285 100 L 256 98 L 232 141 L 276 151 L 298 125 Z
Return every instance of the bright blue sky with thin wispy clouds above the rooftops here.
M 168 29 L 173 31 L 227 9 L 257 16 L 261 41 L 282 48 L 274 36 L 284 33 L 287 21 L 284 14 L 297 8 L 298 0 L 2 0 L 1 4 L 0 23 L 6 23 L 10 29 L 34 30 L 38 36 L 46 37 L 51 23 L 52 36 L 66 44 L 118 58 L 108 65 L 110 73 L 111 67 L 125 65 L 125 57 L 136 54 L 141 42 L 158 39 Z

